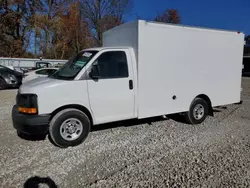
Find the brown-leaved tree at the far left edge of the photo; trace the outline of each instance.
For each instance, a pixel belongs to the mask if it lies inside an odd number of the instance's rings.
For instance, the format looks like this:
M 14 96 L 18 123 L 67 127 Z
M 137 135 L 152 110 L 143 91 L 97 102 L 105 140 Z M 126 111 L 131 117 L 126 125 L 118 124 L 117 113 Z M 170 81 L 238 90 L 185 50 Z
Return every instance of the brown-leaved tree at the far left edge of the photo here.
M 0 56 L 22 56 L 29 44 L 31 17 L 41 1 L 0 1 Z

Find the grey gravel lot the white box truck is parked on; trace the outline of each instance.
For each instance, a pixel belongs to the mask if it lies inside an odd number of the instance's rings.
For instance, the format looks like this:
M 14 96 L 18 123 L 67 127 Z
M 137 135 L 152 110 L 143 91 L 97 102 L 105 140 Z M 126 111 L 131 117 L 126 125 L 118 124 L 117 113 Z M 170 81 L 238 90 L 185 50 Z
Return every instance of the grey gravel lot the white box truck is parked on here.
M 17 91 L 0 91 L 0 187 L 249 187 L 250 79 L 242 85 L 242 105 L 217 109 L 201 125 L 102 125 L 68 149 L 18 137 L 10 117 Z

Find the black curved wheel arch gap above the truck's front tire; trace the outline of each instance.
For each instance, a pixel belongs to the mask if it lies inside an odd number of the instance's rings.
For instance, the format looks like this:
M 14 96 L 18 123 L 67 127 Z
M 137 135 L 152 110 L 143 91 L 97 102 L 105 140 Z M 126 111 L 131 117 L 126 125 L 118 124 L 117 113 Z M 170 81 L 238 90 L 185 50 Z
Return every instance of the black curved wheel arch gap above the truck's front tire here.
M 79 105 L 79 104 L 68 104 L 68 105 L 64 105 L 64 106 L 61 106 L 59 108 L 57 108 L 56 110 L 54 110 L 52 113 L 51 113 L 51 117 L 50 117 L 50 120 L 52 120 L 52 118 L 60 111 L 62 110 L 65 110 L 67 108 L 75 108 L 77 110 L 80 110 L 82 111 L 83 113 L 85 113 L 89 120 L 90 120 L 90 123 L 91 123 L 91 126 L 93 125 L 94 121 L 93 121 L 93 117 L 92 117 L 92 114 L 90 113 L 90 111 L 85 107 L 85 106 L 82 106 L 82 105 Z

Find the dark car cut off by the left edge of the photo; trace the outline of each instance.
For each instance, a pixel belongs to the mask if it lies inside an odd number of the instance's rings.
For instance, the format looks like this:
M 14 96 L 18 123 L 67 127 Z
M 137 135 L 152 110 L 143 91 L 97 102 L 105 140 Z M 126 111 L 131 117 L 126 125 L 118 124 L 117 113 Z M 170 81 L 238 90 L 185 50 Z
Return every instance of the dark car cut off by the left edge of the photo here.
M 19 87 L 22 79 L 22 73 L 0 65 L 0 90 Z

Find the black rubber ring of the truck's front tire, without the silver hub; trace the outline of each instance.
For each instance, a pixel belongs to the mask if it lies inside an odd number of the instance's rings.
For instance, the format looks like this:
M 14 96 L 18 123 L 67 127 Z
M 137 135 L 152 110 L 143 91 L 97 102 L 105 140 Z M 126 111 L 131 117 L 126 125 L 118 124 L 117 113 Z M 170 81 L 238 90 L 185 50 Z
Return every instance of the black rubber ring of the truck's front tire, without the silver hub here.
M 63 129 L 63 122 L 66 120 L 74 118 L 77 119 L 82 124 L 82 132 L 79 134 L 79 136 L 76 139 L 73 140 L 66 140 L 63 137 L 63 134 L 61 133 L 61 128 Z M 91 123 L 86 114 L 84 114 L 82 111 L 77 109 L 65 109 L 60 112 L 58 112 L 51 120 L 50 126 L 49 126 L 49 134 L 57 146 L 61 148 L 67 148 L 69 146 L 77 146 L 80 145 L 88 136 L 90 132 Z M 64 129 L 63 129 L 64 130 Z M 64 130 L 63 132 L 65 132 Z

